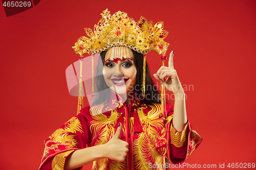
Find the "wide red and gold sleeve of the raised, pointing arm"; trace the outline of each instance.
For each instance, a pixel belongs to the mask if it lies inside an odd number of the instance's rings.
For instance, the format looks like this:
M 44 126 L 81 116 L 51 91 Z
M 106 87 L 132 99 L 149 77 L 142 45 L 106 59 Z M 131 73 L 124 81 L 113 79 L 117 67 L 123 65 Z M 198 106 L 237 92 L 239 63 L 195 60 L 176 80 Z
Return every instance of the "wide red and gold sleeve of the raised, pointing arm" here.
M 155 149 L 174 164 L 179 164 L 195 151 L 202 138 L 190 126 L 189 122 L 186 123 L 182 132 L 176 131 L 173 127 L 174 110 L 172 106 L 168 105 L 168 107 L 164 127 L 156 136 Z

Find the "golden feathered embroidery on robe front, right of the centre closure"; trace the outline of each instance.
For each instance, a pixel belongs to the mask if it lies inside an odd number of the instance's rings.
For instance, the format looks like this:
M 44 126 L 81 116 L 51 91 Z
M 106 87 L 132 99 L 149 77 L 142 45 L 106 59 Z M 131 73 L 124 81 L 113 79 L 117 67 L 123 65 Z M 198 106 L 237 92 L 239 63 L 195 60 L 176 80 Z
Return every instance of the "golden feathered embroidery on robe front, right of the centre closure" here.
M 152 109 L 145 115 L 143 109 L 147 108 L 147 106 Z M 135 167 L 137 169 L 150 169 L 148 163 L 162 164 L 164 161 L 162 154 L 154 148 L 155 136 L 163 128 L 163 118 L 159 118 L 161 104 L 142 104 L 137 108 L 137 112 L 144 132 L 140 133 L 138 139 L 135 139 L 132 143 L 135 155 L 134 161 L 136 161 Z

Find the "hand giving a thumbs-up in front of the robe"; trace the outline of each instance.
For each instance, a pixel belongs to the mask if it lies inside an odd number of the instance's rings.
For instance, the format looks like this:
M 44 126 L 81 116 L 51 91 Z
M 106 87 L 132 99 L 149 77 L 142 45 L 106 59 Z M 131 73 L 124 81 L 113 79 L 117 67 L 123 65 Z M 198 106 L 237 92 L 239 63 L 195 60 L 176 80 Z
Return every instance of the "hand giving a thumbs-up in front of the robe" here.
M 105 157 L 122 162 L 126 155 L 128 150 L 129 143 L 123 141 L 120 139 L 120 135 L 123 128 L 122 125 L 119 124 L 119 127 L 117 128 L 117 131 L 115 135 L 110 139 L 108 143 L 105 144 Z

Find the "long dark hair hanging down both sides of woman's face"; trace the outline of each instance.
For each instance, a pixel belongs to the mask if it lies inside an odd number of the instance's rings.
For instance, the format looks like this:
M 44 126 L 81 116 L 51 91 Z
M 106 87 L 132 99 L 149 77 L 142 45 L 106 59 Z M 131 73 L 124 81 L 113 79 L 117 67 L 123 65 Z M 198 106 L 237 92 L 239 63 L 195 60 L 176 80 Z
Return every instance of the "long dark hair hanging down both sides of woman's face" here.
M 103 51 L 100 53 L 100 58 L 97 64 L 97 70 L 96 70 L 96 93 L 92 104 L 98 104 L 98 103 L 108 103 L 109 102 L 109 96 L 110 96 L 110 90 L 105 90 L 108 89 L 108 85 L 106 85 L 105 80 L 102 75 L 102 70 L 103 66 L 102 63 L 104 63 L 105 55 L 107 51 Z M 150 104 L 153 102 L 156 103 L 161 103 L 160 100 L 160 93 L 156 89 L 155 84 L 150 76 L 150 69 L 148 69 L 148 65 L 146 63 L 146 72 L 145 72 L 145 98 L 142 98 L 142 84 L 143 84 L 143 55 L 141 53 L 133 51 L 133 61 L 135 64 L 135 67 L 137 69 L 137 79 L 136 79 L 136 85 L 134 87 L 139 87 L 135 88 L 135 92 L 139 94 L 140 100 L 144 101 L 146 104 Z

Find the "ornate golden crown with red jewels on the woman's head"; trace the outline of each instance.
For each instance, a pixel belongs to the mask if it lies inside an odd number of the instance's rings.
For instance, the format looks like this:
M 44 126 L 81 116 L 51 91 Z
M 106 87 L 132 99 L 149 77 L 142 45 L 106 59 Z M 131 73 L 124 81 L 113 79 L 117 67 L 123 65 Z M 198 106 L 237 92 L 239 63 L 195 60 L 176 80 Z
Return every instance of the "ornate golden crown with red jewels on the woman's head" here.
M 85 28 L 86 36 L 80 37 L 75 46 L 75 52 L 82 56 L 84 53 L 97 54 L 107 51 L 113 46 L 125 46 L 141 54 L 155 50 L 164 55 L 168 43 L 163 39 L 168 32 L 163 30 L 163 21 L 155 25 L 141 16 L 138 22 L 128 17 L 124 12 L 118 11 L 111 15 L 108 9 L 101 14 L 102 18 L 92 31 Z

